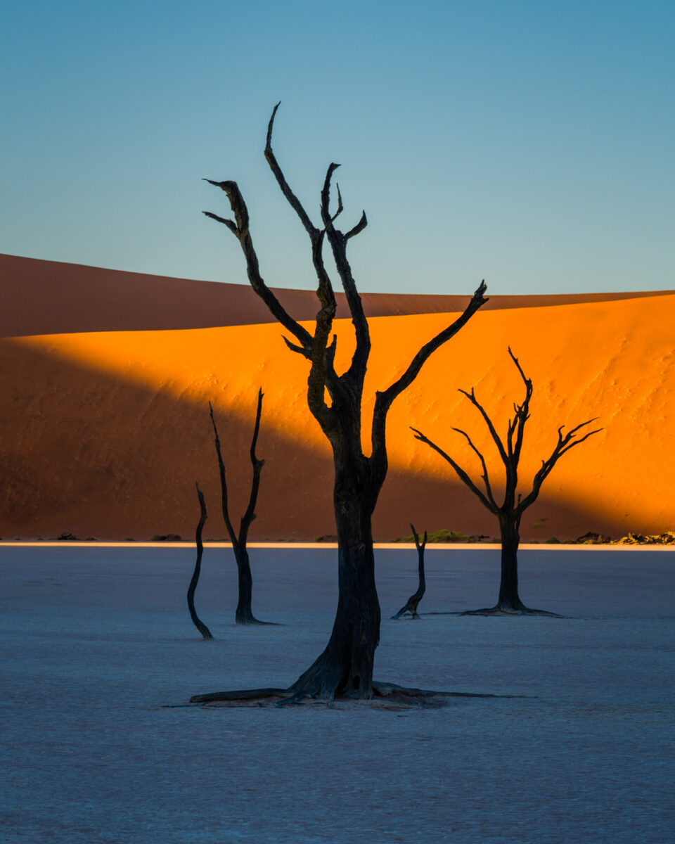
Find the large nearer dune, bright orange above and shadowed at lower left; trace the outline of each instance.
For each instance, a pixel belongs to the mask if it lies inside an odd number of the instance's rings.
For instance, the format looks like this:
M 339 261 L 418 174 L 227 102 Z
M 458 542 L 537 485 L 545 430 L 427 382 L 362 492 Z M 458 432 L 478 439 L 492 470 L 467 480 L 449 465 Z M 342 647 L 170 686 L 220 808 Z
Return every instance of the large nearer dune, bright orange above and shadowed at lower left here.
M 525 538 L 588 530 L 657 533 L 675 525 L 675 296 L 479 312 L 424 366 L 393 405 L 390 474 L 375 537 L 450 527 L 495 535 L 494 517 L 415 441 L 413 425 L 478 479 L 471 434 L 499 487 L 499 458 L 458 387 L 504 431 L 522 383 L 510 345 L 534 382 L 522 489 L 554 446 L 559 425 L 599 417 L 602 433 L 561 459 L 522 524 Z M 375 389 L 401 374 L 419 347 L 454 317 L 370 320 L 365 444 Z M 352 327 L 337 323 L 338 365 Z M 229 468 L 234 514 L 246 506 L 248 446 L 258 387 L 265 392 L 258 452 L 266 460 L 253 538 L 335 533 L 332 461 L 305 401 L 307 362 L 276 324 L 182 331 L 78 333 L 0 341 L 3 495 L 0 534 L 189 537 L 194 482 L 206 491 L 205 535 L 224 537 L 208 401 Z

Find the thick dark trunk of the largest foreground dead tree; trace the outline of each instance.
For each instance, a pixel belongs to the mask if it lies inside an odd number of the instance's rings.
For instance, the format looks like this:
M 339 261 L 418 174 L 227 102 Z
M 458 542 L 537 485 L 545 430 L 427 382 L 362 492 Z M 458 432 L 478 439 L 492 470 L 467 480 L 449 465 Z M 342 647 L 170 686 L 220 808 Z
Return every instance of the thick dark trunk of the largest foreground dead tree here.
M 360 458 L 359 463 L 365 459 Z M 364 481 L 360 489 L 354 486 L 354 477 Z M 290 688 L 302 696 L 370 698 L 381 619 L 371 527 L 374 499 L 363 471 L 355 475 L 340 472 L 333 497 L 338 527 L 338 611 L 326 649 Z

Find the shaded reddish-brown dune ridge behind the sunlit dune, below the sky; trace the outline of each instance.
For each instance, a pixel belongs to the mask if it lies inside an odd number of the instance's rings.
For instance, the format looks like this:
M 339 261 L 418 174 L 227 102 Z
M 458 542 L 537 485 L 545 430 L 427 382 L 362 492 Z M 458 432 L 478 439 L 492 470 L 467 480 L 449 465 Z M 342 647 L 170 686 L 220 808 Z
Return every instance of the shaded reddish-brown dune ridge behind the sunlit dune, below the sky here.
M 218 284 L 0 255 L 0 279 L 0 337 L 274 322 L 251 287 L 243 283 L 243 267 L 241 284 Z M 466 288 L 466 295 L 365 293 L 362 299 L 369 317 L 461 311 L 467 295 L 473 293 L 471 283 Z M 295 319 L 316 316 L 316 295 L 311 290 L 275 292 Z M 569 305 L 653 295 L 658 294 L 492 296 L 485 307 Z M 348 317 L 344 294 L 338 293 L 337 298 L 338 317 Z

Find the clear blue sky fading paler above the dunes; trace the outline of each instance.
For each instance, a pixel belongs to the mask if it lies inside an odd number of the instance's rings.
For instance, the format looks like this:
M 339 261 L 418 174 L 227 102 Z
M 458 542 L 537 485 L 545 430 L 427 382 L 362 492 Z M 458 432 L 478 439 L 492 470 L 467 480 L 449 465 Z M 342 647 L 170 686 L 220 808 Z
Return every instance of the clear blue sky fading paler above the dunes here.
M 316 287 L 331 161 L 362 291 L 675 289 L 672 0 L 3 4 L 0 252 Z

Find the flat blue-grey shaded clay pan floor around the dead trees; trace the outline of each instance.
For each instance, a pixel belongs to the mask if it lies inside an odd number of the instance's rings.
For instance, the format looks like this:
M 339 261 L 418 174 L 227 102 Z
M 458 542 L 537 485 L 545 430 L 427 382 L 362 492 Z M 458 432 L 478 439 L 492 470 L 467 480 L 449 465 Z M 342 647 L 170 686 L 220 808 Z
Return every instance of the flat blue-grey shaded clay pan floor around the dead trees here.
M 440 709 L 175 706 L 286 685 L 327 641 L 334 549 L 255 549 L 232 624 L 231 551 L 207 549 L 197 636 L 185 549 L 0 548 L 0 839 L 68 844 L 672 841 L 675 551 L 532 549 L 521 597 L 568 616 L 389 616 L 414 549 L 377 553 L 376 676 Z M 494 602 L 499 555 L 429 549 L 421 610 Z

